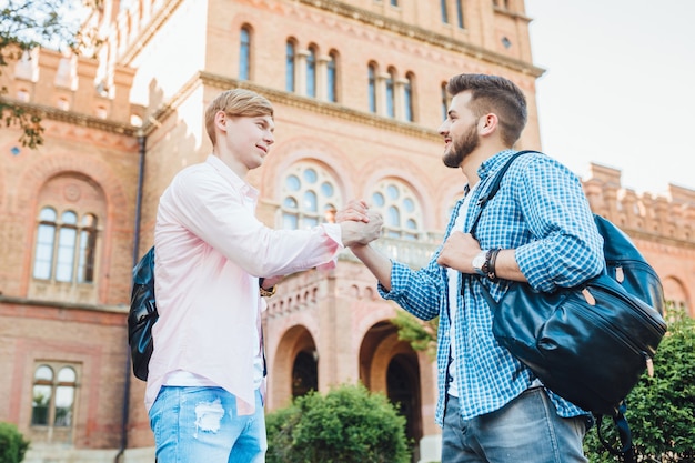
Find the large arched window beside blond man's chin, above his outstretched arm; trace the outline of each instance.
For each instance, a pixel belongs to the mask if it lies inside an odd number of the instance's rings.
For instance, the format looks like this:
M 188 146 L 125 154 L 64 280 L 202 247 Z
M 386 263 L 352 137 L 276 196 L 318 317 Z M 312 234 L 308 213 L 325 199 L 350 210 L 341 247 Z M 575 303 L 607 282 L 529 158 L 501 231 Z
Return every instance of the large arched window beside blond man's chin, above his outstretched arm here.
M 282 181 L 282 228 L 310 229 L 332 222 L 341 194 L 333 177 L 321 165 L 299 162 Z

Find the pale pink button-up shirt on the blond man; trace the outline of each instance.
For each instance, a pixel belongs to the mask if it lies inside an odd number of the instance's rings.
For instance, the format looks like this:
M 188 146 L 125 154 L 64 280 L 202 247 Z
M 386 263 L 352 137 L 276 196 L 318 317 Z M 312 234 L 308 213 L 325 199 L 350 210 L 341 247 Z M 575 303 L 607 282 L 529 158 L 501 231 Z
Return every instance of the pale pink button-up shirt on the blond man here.
M 338 224 L 273 230 L 254 215 L 259 193 L 218 157 L 177 174 L 160 199 L 154 233 L 160 314 L 145 392 L 148 410 L 172 373 L 192 373 L 253 409 L 259 276 L 332 264 Z

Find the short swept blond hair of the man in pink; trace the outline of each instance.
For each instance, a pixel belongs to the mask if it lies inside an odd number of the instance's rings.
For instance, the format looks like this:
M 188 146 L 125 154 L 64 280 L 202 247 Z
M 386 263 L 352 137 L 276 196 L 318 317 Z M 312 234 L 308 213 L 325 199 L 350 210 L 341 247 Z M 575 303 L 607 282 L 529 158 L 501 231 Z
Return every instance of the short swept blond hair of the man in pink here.
M 273 105 L 270 101 L 254 91 L 232 89 L 220 93 L 205 109 L 205 130 L 214 145 L 214 117 L 224 111 L 230 117 L 255 118 L 259 115 L 273 117 Z

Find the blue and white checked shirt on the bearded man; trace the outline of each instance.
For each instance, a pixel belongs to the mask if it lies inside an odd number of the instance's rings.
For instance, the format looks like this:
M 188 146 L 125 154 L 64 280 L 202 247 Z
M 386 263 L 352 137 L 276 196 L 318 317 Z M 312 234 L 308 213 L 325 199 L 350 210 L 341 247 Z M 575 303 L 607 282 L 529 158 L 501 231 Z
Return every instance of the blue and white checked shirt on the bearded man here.
M 486 193 L 492 179 L 514 151 L 502 151 L 479 169 L 480 184 L 474 189 L 465 217 L 469 231 L 480 208 L 477 199 Z M 460 200 L 454 208 L 445 239 L 452 232 Z M 542 291 L 574 286 L 598 274 L 603 268 L 603 240 L 582 190 L 580 179 L 554 159 L 531 153 L 517 158 L 507 170 L 497 194 L 487 203 L 477 224 L 476 239 L 482 249 L 515 249 L 516 261 L 528 283 Z M 440 315 L 437 346 L 439 400 L 436 422 L 442 425 L 450 354 L 449 311 L 456 310 L 453 342 L 459 382 L 459 403 L 464 420 L 501 409 L 528 389 L 535 376 L 492 334 L 492 311 L 481 284 L 500 300 L 508 281 L 491 283 L 459 274 L 457 306 L 449 306 L 446 270 L 436 263 L 441 246 L 430 263 L 414 271 L 393 262 L 391 291 L 379 291 L 423 320 Z M 483 281 L 483 283 L 481 283 Z M 561 416 L 586 414 L 572 403 L 551 393 Z

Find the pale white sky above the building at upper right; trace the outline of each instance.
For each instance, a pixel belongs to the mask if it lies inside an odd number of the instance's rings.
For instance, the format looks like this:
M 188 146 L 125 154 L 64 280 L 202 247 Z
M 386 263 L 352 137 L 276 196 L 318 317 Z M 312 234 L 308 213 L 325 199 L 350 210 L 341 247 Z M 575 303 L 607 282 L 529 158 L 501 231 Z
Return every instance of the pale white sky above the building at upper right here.
M 695 190 L 695 0 L 526 0 L 543 150 Z

